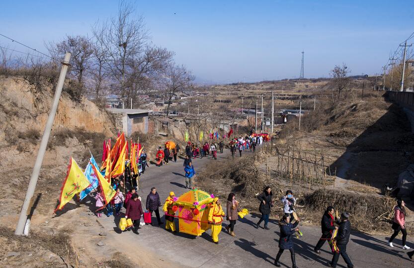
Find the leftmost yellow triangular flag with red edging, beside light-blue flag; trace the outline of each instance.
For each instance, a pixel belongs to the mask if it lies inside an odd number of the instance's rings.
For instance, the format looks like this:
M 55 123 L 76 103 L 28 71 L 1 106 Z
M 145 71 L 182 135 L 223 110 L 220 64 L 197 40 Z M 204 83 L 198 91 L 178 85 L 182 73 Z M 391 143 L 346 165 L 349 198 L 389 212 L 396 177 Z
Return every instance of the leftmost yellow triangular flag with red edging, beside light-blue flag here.
M 71 161 L 68 166 L 68 174 L 66 175 L 66 179 L 63 181 L 61 188 L 59 205 L 54 212 L 56 213 L 56 211 L 62 209 L 66 203 L 72 200 L 75 194 L 83 191 L 87 186 L 89 186 L 89 184 L 89 181 L 83 175 L 82 169 L 71 157 Z

